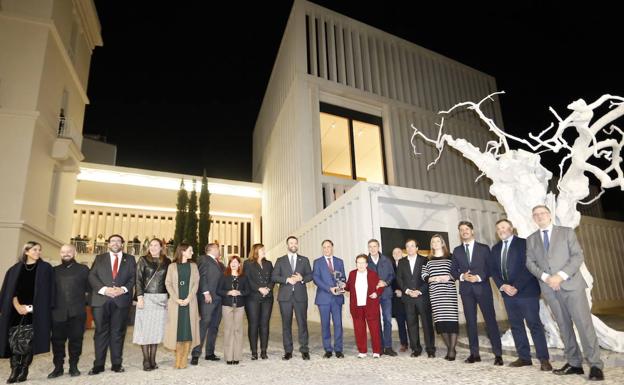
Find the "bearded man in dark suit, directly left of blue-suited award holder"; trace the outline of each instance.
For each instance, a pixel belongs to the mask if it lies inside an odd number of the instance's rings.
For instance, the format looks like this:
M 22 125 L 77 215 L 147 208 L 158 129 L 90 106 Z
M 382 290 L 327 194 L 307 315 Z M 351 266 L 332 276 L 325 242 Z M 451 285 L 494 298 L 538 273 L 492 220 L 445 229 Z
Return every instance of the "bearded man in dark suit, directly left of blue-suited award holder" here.
M 282 315 L 282 338 L 284 342 L 284 356 L 282 359 L 292 358 L 292 316 L 297 317 L 299 329 L 299 351 L 304 360 L 310 359 L 308 348 L 308 291 L 306 283 L 312 280 L 310 261 L 303 255 L 298 255 L 299 240 L 292 235 L 286 238 L 288 254 L 275 261 L 275 268 L 271 278 L 279 283 L 277 301 Z

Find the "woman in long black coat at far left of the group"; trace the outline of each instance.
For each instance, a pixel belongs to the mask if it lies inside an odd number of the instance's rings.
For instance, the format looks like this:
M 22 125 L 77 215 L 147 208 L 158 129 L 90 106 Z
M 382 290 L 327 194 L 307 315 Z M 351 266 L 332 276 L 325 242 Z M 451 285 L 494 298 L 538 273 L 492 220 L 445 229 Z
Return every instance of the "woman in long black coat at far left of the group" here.
M 33 355 L 50 351 L 54 271 L 41 259 L 41 245 L 27 242 L 19 262 L 7 272 L 0 290 L 0 356 L 11 357 L 7 383 L 26 381 Z M 17 325 L 33 325 L 34 335 L 26 354 L 9 346 L 9 332 Z

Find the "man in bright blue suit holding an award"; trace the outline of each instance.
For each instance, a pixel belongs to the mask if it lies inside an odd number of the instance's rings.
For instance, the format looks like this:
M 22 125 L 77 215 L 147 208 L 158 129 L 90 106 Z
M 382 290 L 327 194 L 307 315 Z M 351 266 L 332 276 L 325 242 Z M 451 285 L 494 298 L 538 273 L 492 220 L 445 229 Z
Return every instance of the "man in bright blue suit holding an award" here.
M 342 259 L 334 256 L 334 242 L 326 239 L 321 244 L 323 256 L 314 261 L 312 279 L 316 284 L 316 299 L 314 303 L 319 307 L 321 314 L 321 331 L 325 355 L 330 358 L 336 352 L 337 358 L 344 358 L 342 353 L 342 305 L 344 304 L 343 291 L 338 287 L 338 281 L 346 285 L 347 276 Z M 331 343 L 330 318 L 334 323 L 334 346 Z

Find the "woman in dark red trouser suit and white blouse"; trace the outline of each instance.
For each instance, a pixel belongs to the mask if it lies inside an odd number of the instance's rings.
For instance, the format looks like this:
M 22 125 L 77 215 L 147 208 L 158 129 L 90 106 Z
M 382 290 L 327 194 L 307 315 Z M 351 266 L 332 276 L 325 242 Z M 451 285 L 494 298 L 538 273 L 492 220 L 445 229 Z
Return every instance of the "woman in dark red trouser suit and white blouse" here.
M 345 290 L 350 292 L 351 317 L 355 331 L 355 344 L 359 358 L 366 357 L 366 324 L 373 342 L 373 358 L 381 354 L 381 334 L 379 322 L 379 296 L 383 286 L 379 286 L 379 276 L 368 270 L 368 256 L 360 254 L 355 258 L 356 270 L 349 273 Z

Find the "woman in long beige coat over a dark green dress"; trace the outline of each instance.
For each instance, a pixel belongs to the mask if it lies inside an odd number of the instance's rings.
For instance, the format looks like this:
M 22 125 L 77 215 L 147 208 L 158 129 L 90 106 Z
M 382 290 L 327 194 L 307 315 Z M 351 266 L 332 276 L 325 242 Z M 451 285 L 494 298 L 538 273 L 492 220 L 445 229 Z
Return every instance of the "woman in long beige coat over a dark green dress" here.
M 175 350 L 176 369 L 186 368 L 191 347 L 199 345 L 197 310 L 199 270 L 191 260 L 192 256 L 193 247 L 187 243 L 180 243 L 176 248 L 173 263 L 167 269 L 165 281 L 169 301 L 163 344 L 166 348 Z

